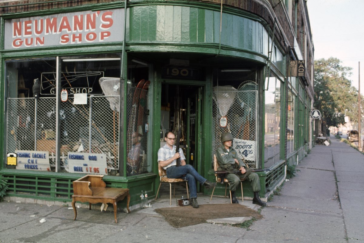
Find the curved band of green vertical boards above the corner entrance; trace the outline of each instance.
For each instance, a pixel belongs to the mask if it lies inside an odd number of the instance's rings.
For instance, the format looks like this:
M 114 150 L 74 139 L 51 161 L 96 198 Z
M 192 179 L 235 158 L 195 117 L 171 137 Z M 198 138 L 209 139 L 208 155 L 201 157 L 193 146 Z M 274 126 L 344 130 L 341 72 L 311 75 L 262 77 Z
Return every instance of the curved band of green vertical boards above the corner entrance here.
M 173 5 L 130 9 L 129 41 L 219 44 L 220 12 Z M 268 33 L 261 23 L 228 13 L 222 15 L 221 44 L 268 53 Z

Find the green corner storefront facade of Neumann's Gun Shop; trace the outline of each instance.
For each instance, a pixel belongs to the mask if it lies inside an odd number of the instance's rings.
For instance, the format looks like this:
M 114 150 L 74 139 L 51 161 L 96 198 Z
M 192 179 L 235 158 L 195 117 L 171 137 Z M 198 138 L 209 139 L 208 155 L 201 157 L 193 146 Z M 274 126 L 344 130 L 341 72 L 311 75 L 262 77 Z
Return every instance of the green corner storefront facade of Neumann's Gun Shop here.
M 137 208 L 141 191 L 155 197 L 169 130 L 182 131 L 186 162 L 211 181 L 219 136 L 231 132 L 250 167 L 275 169 L 259 172 L 263 198 L 309 150 L 310 84 L 289 77 L 301 54 L 282 46 L 277 21 L 213 1 L 51 2 L 2 6 L 8 196 L 70 202 L 73 180 L 103 174 Z

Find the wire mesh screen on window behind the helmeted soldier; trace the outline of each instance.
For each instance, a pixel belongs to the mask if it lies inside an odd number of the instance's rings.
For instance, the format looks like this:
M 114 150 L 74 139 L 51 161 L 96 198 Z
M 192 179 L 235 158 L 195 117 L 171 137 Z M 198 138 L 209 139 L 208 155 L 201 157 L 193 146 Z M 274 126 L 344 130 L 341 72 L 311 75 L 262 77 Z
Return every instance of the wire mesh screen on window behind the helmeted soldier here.
M 257 90 L 245 88 L 214 87 L 213 153 L 222 146 L 221 134 L 230 132 L 234 137 L 233 148 L 239 157 L 244 158 L 250 168 L 257 168 Z M 227 122 L 221 117 L 226 117 Z

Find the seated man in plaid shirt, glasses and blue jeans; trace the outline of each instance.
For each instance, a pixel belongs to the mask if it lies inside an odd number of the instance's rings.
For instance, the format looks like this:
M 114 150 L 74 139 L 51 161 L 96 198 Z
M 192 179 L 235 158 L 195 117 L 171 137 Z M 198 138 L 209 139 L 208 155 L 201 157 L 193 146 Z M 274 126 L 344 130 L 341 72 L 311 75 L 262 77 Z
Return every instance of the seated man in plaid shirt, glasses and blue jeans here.
M 175 139 L 176 136 L 173 132 L 166 132 L 164 138 L 166 144 L 158 150 L 158 163 L 166 170 L 168 178 L 182 178 L 187 181 L 190 189 L 190 204 L 192 207 L 198 208 L 196 180 L 206 188 L 213 188 L 216 183 L 209 182 L 198 174 L 193 166 L 186 164 L 182 148 L 179 148 L 179 152 L 176 153 Z M 181 160 L 181 166 L 176 166 L 178 158 Z

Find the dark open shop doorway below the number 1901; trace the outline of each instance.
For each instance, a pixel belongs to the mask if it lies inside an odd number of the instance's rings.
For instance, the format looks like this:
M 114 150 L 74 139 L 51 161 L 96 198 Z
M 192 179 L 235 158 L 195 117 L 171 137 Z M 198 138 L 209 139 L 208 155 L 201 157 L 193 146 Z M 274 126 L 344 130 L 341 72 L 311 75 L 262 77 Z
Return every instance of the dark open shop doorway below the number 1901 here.
M 202 89 L 198 85 L 163 83 L 161 93 L 161 146 L 166 132 L 173 131 L 177 138 L 181 131 L 179 143 L 186 163 L 197 171 L 201 170 L 202 156 Z

